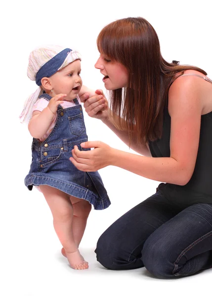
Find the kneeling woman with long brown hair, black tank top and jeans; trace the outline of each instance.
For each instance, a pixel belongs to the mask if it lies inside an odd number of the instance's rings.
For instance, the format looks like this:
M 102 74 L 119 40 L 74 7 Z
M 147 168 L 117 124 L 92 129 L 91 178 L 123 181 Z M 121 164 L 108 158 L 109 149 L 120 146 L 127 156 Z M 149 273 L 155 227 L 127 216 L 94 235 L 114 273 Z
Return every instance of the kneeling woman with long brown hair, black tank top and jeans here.
M 106 268 L 145 266 L 160 278 L 212 267 L 212 80 L 197 67 L 166 62 L 154 28 L 143 18 L 107 25 L 97 38 L 95 67 L 111 91 L 85 111 L 101 119 L 141 155 L 102 142 L 82 143 L 72 163 L 82 171 L 108 165 L 162 182 L 157 192 L 114 222 L 99 238 Z M 151 157 L 152 156 L 152 157 Z

